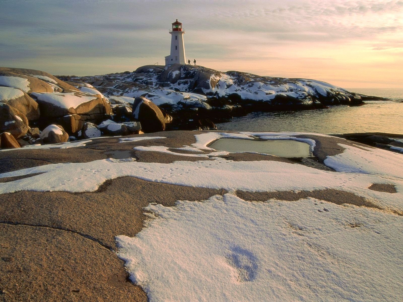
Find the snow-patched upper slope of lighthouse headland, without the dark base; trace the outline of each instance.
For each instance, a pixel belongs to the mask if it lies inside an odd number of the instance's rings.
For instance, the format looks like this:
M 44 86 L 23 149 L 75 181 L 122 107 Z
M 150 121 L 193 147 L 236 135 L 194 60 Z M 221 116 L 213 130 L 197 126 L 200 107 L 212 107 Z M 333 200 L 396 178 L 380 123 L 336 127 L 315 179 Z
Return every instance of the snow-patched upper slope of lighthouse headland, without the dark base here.
M 173 110 L 199 108 L 211 100 L 261 103 L 266 108 L 314 108 L 323 105 L 361 103 L 365 96 L 310 79 L 262 77 L 239 71 L 220 72 L 202 66 L 146 65 L 130 74 L 76 78 L 96 85 L 113 97 L 144 96 L 156 105 L 170 105 Z M 123 99 L 122 99 L 123 101 Z

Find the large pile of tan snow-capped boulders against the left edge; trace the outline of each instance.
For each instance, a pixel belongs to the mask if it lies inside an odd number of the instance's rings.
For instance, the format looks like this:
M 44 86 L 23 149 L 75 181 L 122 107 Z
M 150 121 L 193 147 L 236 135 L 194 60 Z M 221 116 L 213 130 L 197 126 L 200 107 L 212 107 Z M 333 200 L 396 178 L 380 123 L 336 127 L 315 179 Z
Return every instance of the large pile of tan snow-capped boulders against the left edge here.
M 100 91 L 86 83 L 73 84 L 39 70 L 0 67 L 0 103 L 18 110 L 18 114 L 8 114 L 4 111 L 8 107 L 2 109 L 0 131 L 22 137 L 28 120 L 40 129 L 59 124 L 76 135 L 85 122 L 110 118 L 112 109 Z

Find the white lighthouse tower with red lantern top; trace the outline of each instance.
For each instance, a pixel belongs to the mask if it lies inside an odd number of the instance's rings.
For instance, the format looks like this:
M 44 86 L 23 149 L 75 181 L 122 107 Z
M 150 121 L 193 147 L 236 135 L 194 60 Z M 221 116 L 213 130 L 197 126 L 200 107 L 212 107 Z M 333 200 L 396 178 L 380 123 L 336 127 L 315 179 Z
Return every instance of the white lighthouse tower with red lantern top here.
M 165 57 L 165 65 L 186 64 L 185 44 L 183 43 L 185 29 L 182 28 L 182 23 L 178 19 L 172 23 L 169 33 L 171 34 L 171 54 Z

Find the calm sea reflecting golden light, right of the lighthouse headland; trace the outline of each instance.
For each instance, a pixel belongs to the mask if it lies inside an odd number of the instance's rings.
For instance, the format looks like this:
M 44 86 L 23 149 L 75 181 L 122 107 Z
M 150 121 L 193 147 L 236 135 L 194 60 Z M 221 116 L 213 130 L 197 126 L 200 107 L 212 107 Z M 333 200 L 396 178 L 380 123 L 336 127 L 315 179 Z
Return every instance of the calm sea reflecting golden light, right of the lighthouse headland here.
M 403 134 L 403 89 L 347 89 L 388 97 L 392 101 L 366 101 L 359 107 L 330 106 L 328 109 L 255 112 L 231 122 L 217 124 L 218 130 L 256 132 L 314 132 L 342 134 L 387 132 Z

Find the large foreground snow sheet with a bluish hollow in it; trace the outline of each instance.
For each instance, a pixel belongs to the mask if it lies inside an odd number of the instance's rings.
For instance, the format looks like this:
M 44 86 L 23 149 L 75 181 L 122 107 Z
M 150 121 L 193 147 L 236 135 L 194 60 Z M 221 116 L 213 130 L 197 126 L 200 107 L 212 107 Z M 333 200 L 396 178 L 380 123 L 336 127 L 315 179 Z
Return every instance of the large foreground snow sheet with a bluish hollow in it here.
M 156 215 L 146 228 L 116 240 L 149 301 L 401 298 L 403 220 L 396 215 L 311 198 L 261 203 L 232 194 L 145 209 Z

